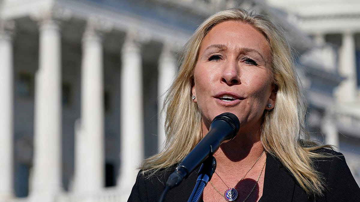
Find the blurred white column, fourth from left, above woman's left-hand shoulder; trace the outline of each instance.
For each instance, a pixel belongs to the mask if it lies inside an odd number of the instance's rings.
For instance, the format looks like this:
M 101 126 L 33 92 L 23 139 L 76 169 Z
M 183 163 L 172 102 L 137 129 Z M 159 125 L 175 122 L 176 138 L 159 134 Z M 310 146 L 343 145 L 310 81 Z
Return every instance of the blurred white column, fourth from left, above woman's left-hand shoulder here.
M 139 34 L 127 33 L 121 52 L 121 150 L 118 186 L 130 194 L 144 157 L 143 78 Z M 127 195 L 129 196 L 129 195 Z

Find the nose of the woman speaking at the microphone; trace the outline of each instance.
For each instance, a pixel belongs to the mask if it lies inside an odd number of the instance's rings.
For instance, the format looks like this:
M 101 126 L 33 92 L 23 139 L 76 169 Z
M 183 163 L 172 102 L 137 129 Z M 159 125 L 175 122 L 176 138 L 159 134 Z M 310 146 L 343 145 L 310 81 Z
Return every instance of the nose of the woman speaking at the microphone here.
M 228 85 L 240 84 L 240 69 L 237 62 L 228 62 L 224 64 L 221 81 Z

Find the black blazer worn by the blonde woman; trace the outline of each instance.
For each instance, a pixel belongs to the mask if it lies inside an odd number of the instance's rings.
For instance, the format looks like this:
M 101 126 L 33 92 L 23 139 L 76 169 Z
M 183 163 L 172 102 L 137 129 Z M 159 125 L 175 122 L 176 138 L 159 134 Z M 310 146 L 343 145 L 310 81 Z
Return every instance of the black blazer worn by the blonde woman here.
M 264 188 L 260 202 L 360 202 L 360 188 L 350 173 L 350 169 L 342 154 L 327 149 L 321 149 L 319 151 L 332 153 L 338 156 L 329 159 L 314 160 L 316 169 L 323 174 L 325 183 L 328 186 L 324 196 L 316 198 L 308 196 L 280 161 L 267 153 Z M 157 202 L 165 188 L 164 184 L 166 183 L 168 176 L 173 171 L 174 169 L 166 172 L 159 172 L 159 174 L 148 179 L 144 179 L 144 176 L 139 172 L 128 202 Z M 165 201 L 188 201 L 196 180 L 197 174 L 194 172 L 178 187 L 169 190 Z

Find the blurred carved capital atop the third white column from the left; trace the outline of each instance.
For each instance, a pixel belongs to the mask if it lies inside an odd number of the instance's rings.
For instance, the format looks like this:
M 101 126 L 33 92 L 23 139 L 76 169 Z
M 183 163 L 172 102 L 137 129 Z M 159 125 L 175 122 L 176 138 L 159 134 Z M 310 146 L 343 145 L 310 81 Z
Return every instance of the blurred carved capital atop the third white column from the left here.
M 89 17 L 82 40 L 102 40 L 103 33 L 110 32 L 113 24 L 101 17 Z

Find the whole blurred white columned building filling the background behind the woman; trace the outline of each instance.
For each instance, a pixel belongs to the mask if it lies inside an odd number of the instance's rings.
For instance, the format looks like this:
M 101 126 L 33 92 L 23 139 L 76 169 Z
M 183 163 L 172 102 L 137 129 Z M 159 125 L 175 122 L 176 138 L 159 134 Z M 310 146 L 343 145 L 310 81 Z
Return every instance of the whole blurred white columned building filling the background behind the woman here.
M 0 201 L 126 201 L 162 148 L 176 53 L 237 6 L 287 31 L 312 137 L 338 146 L 359 183 L 360 3 L 318 2 L 0 0 Z

